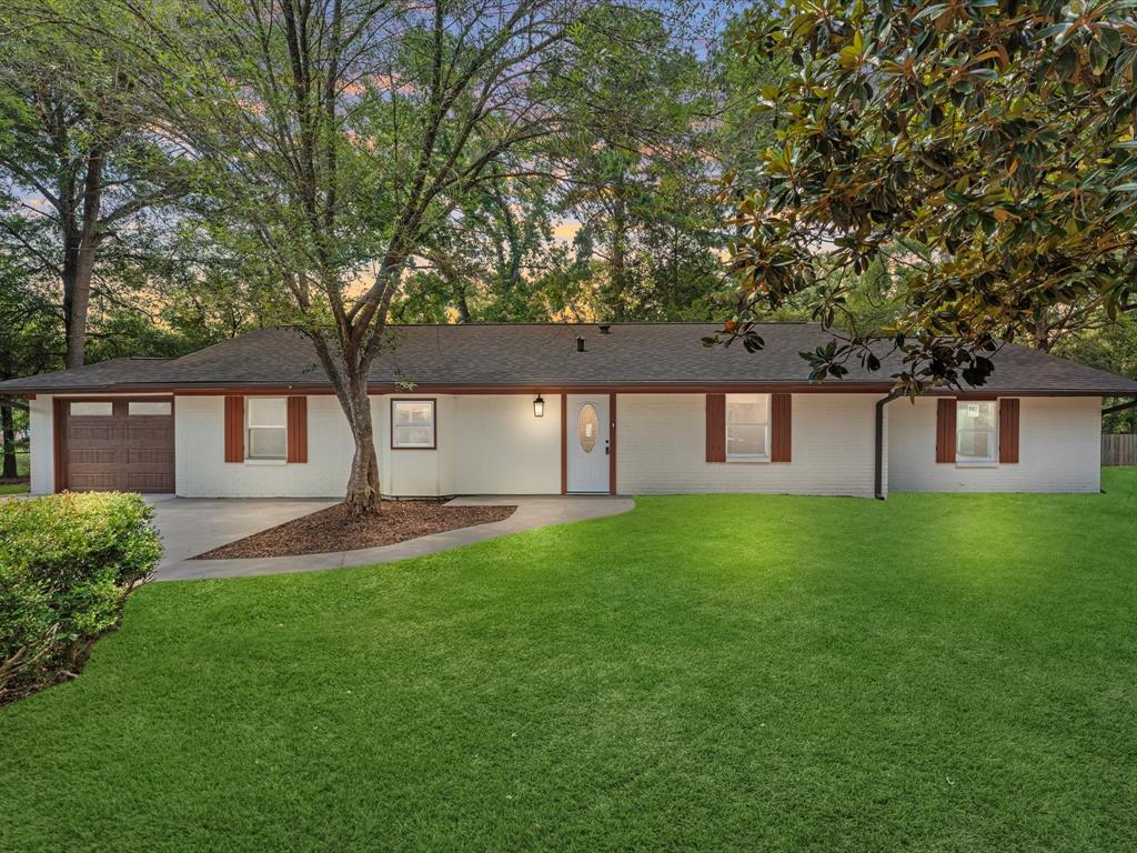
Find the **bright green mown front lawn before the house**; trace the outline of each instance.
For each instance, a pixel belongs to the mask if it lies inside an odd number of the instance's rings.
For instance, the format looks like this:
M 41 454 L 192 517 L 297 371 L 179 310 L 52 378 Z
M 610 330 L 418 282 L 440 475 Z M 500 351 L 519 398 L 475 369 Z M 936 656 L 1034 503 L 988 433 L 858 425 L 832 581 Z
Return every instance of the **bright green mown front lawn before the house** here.
M 1105 486 L 645 498 L 150 585 L 0 709 L 0 850 L 1122 850 L 1137 471 Z

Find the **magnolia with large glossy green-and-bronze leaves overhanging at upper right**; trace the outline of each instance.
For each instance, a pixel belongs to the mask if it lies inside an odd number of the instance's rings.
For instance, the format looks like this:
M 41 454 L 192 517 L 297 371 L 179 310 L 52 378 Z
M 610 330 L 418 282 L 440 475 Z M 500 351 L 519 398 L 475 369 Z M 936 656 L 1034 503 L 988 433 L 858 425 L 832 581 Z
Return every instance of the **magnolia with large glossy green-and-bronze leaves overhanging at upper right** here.
M 897 387 L 982 384 L 989 355 L 1040 321 L 1113 317 L 1137 298 L 1137 23 L 1130 0 L 864 3 L 754 13 L 741 50 L 787 65 L 760 110 L 777 141 L 736 180 L 737 313 L 708 345 L 763 341 L 754 321 L 806 301 L 850 363 Z M 847 299 L 877 263 L 901 272 L 888 324 Z

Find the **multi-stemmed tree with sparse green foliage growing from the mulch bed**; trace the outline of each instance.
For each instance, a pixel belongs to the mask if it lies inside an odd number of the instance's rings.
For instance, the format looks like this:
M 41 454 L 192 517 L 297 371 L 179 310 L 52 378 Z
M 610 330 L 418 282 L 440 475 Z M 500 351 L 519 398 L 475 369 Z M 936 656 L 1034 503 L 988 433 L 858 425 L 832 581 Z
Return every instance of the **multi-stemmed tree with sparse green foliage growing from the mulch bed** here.
M 346 500 L 379 511 L 367 378 L 404 271 L 472 193 L 547 176 L 534 141 L 564 127 L 590 5 L 122 2 L 202 220 L 262 316 L 312 339 L 355 437 Z

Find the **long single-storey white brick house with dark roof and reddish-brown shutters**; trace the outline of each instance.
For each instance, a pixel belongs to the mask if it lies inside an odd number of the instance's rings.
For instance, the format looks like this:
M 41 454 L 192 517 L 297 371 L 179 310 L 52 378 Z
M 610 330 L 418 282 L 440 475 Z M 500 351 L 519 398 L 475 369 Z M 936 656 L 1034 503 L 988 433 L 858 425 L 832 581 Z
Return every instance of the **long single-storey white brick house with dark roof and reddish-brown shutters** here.
M 1097 491 L 1103 397 L 1137 397 L 1131 380 L 1007 347 L 982 389 L 887 401 L 887 364 L 807 380 L 798 353 L 827 338 L 815 325 L 767 325 L 753 355 L 702 347 L 708 331 L 392 329 L 371 373 L 383 492 Z M 0 395 L 30 400 L 36 494 L 333 497 L 347 481 L 347 421 L 297 332 L 14 380 Z

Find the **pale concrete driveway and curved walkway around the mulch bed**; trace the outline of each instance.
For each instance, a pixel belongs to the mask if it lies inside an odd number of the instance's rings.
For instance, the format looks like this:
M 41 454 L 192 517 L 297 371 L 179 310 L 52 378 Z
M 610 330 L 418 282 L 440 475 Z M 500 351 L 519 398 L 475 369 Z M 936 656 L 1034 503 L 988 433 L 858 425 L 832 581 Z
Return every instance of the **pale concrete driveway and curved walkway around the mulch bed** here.
M 155 502 L 158 530 L 166 544 L 166 558 L 158 566 L 158 580 L 239 578 L 254 574 L 287 574 L 348 565 L 370 565 L 449 550 L 462 545 L 520 533 L 550 524 L 599 519 L 625 513 L 636 506 L 631 498 L 605 496 L 501 496 L 462 497 L 451 506 L 516 505 L 504 521 L 447 530 L 395 545 L 332 554 L 251 560 L 190 560 L 226 543 L 306 515 L 333 500 L 259 500 L 229 498 L 201 500 L 171 498 Z M 244 506 L 242 506 L 244 505 Z M 251 529 L 250 529 L 251 528 Z

